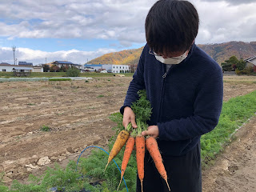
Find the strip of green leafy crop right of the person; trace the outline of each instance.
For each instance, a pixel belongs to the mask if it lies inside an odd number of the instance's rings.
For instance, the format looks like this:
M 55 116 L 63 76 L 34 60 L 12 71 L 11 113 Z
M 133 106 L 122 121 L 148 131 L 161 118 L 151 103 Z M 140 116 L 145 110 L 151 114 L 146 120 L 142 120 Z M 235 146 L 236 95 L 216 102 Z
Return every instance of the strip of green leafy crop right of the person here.
M 231 98 L 223 103 L 218 126 L 208 134 L 202 135 L 202 166 L 207 166 L 216 157 L 223 146 L 231 142 L 232 135 L 256 112 L 256 91 Z

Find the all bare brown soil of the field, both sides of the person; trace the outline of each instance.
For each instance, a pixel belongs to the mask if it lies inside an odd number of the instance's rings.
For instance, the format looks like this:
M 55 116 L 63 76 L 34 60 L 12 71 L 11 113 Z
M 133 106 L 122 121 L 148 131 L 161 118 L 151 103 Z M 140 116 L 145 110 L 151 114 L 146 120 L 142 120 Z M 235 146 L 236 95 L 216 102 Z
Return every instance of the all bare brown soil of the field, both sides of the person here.
M 65 165 L 70 159 L 77 160 L 86 146 L 106 147 L 114 134 L 109 115 L 122 106 L 130 80 L 110 77 L 89 82 L 0 83 L 3 182 L 8 185 L 14 178 L 24 180 L 54 162 Z M 225 101 L 256 90 L 256 77 L 225 76 L 224 80 Z M 42 131 L 42 126 L 50 131 Z M 234 146 L 205 171 L 203 191 L 256 191 L 255 133 L 253 118 L 238 131 Z

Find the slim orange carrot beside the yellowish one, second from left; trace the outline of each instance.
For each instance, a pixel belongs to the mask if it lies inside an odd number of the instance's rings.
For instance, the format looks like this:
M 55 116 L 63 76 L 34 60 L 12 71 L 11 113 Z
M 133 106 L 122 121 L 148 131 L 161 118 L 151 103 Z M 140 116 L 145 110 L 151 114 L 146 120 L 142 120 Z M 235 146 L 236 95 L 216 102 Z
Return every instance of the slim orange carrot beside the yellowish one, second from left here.
M 118 189 L 119 189 L 119 186 L 122 182 L 123 174 L 125 174 L 126 166 L 127 166 L 128 162 L 129 162 L 129 159 L 130 159 L 130 154 L 134 150 L 134 142 L 135 142 L 135 138 L 133 136 L 130 136 L 130 138 L 128 138 L 128 140 L 126 142 L 126 149 L 125 149 L 125 152 L 124 152 L 123 158 L 122 158 L 121 179 L 120 179 L 120 182 L 119 182 L 119 185 L 118 185 Z

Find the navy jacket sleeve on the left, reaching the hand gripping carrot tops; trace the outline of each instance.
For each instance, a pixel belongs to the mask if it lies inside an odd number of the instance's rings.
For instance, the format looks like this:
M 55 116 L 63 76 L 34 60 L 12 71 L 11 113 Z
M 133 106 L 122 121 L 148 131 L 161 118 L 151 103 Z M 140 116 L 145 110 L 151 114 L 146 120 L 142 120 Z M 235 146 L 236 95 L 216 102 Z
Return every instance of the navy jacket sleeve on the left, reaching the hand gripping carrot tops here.
M 128 87 L 126 98 L 123 106 L 120 108 L 120 113 L 123 114 L 126 106 L 131 106 L 133 102 L 138 99 L 138 90 L 145 89 L 144 82 L 144 62 L 145 62 L 146 46 L 142 50 L 142 54 L 139 58 L 137 70 L 134 73 L 133 80 Z

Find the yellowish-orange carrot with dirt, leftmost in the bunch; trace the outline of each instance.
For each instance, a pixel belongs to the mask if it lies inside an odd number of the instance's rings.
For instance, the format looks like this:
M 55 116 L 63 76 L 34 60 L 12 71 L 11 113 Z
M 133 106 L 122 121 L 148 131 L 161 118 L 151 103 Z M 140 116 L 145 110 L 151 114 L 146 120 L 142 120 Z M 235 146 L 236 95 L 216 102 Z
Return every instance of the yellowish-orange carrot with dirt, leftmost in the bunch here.
M 118 134 L 118 138 L 114 142 L 114 146 L 112 150 L 110 151 L 110 155 L 106 164 L 106 167 L 109 165 L 109 163 L 112 161 L 112 159 L 119 153 L 119 151 L 122 149 L 122 146 L 126 144 L 127 139 L 129 138 L 130 134 L 126 130 L 122 130 Z M 105 170 L 106 170 L 105 167 Z M 105 171 L 104 170 L 104 171 Z

